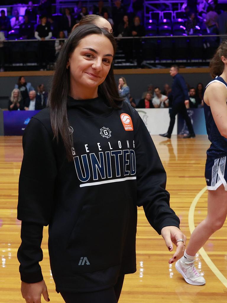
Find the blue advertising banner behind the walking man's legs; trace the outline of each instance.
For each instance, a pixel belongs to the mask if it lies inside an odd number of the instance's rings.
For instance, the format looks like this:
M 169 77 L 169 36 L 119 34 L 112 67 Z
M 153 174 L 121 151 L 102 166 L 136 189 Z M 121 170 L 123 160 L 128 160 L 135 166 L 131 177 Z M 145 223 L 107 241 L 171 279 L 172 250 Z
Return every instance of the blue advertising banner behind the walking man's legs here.
M 203 108 L 189 108 L 187 109 L 189 118 L 191 119 L 194 132 L 196 135 L 206 135 L 206 123 Z M 183 117 L 178 114 L 178 135 L 188 134 L 188 128 Z

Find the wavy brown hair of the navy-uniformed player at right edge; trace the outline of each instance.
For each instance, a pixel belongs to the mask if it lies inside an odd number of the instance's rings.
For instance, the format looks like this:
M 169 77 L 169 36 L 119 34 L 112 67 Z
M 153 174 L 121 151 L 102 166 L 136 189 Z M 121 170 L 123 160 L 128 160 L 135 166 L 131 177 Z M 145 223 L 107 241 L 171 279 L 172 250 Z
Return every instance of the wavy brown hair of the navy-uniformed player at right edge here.
M 224 71 L 224 63 L 221 59 L 222 56 L 227 58 L 227 41 L 223 41 L 219 45 L 219 48 L 216 50 L 215 55 L 210 62 L 210 74 L 212 78 L 220 76 Z

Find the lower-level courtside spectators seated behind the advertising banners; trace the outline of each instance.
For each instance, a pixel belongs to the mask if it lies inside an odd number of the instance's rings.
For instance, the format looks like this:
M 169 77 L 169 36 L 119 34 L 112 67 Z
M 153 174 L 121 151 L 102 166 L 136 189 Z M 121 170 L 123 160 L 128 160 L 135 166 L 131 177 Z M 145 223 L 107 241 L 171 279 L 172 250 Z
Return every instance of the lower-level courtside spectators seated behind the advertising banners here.
M 187 84 L 187 87 L 189 94 L 189 105 L 187 108 L 203 107 L 203 84 L 198 83 L 196 88 Z M 168 108 L 172 105 L 171 88 L 167 83 L 163 87 L 149 84 L 147 91 L 141 94 L 141 99 L 135 100 L 130 94 L 126 79 L 120 77 L 118 80 L 118 92 L 134 108 Z M 168 97 L 167 100 L 165 100 L 166 97 Z M 25 81 L 24 76 L 20 76 L 9 98 L 8 110 L 41 110 L 46 107 L 47 98 L 48 92 L 45 90 L 44 84 L 38 85 L 35 90 L 30 82 Z

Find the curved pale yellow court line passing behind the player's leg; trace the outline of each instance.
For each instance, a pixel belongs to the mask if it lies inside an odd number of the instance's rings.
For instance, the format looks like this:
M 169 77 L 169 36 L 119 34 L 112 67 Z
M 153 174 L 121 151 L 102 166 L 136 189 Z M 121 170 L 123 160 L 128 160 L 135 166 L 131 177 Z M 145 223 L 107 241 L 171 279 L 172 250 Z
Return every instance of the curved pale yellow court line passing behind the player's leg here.
M 199 199 L 201 198 L 201 196 L 205 193 L 205 191 L 207 190 L 207 187 L 205 186 L 194 198 L 194 200 L 192 201 L 192 204 L 189 208 L 189 214 L 188 214 L 188 223 L 189 223 L 189 230 L 190 233 L 192 234 L 192 231 L 195 229 L 195 224 L 194 224 L 194 212 L 195 212 L 195 208 L 196 208 L 196 204 L 199 201 Z M 208 257 L 206 251 L 204 250 L 204 248 L 200 248 L 199 253 L 201 255 L 201 257 L 203 258 L 203 260 L 206 262 L 206 264 L 209 266 L 209 268 L 213 271 L 213 273 L 215 274 L 215 276 L 222 282 L 223 285 L 225 285 L 225 287 L 227 288 L 227 279 L 225 278 L 225 276 L 222 275 L 222 273 L 219 271 L 219 269 L 214 265 L 214 263 L 211 261 L 211 259 Z

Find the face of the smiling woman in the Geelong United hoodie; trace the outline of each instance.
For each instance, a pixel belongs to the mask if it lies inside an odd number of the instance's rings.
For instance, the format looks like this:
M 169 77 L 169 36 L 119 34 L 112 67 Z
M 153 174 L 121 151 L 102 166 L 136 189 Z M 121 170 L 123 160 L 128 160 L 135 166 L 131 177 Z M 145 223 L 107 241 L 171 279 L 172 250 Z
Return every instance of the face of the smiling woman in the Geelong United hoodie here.
M 113 45 L 104 35 L 81 39 L 69 58 L 71 87 L 95 89 L 104 82 L 113 61 Z

